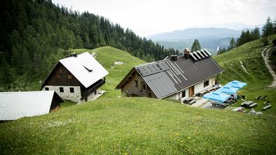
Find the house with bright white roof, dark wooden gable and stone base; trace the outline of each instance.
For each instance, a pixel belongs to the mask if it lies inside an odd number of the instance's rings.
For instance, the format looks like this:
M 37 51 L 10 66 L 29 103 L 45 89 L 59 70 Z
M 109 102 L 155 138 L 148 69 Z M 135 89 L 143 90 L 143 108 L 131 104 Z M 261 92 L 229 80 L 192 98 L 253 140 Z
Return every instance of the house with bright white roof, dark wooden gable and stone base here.
M 106 69 L 88 52 L 73 54 L 57 62 L 41 89 L 55 91 L 66 100 L 89 101 L 98 96 L 107 74 Z

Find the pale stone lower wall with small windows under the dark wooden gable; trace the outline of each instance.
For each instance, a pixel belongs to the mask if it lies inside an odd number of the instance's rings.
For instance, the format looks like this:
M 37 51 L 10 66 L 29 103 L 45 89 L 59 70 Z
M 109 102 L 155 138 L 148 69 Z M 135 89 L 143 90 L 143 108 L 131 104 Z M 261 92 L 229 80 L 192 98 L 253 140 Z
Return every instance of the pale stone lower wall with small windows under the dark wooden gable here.
M 45 87 L 48 87 L 49 90 L 55 91 L 62 99 L 71 100 L 74 102 L 81 101 L 81 87 L 79 86 L 49 86 L 46 85 L 42 90 L 46 90 Z M 64 92 L 60 92 L 60 87 L 63 87 Z M 70 87 L 74 88 L 74 93 L 70 92 Z

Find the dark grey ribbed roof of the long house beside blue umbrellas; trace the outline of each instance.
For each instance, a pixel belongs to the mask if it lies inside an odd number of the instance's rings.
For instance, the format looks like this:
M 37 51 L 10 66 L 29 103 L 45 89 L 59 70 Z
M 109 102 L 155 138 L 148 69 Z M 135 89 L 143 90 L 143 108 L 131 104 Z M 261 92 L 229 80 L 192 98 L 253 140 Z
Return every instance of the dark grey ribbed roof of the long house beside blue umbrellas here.
M 167 58 L 135 66 L 134 69 L 149 85 L 157 98 L 165 98 L 223 72 L 212 57 L 204 57 L 195 61 L 195 59 L 187 59 L 184 56 L 177 57 L 177 61 Z M 130 73 L 132 72 L 133 68 Z M 116 89 L 123 85 L 130 73 L 118 84 Z

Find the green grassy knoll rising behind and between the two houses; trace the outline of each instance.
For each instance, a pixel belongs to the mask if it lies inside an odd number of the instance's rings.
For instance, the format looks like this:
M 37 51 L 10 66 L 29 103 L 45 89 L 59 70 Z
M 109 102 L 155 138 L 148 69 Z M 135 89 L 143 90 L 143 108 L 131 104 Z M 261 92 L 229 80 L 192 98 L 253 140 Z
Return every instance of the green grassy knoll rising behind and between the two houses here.
M 133 57 L 128 52 L 113 47 L 99 47 L 95 50 L 77 49 L 71 50 L 71 52 L 94 52 L 97 54 L 97 61 L 109 71 L 109 75 L 106 76 L 106 84 L 102 87 L 102 89 L 107 91 L 106 94 L 104 94 L 105 97 L 120 96 L 120 90 L 115 90 L 116 85 L 125 77 L 132 67 L 146 63 L 137 57 Z M 114 65 L 115 61 L 123 61 L 123 65 Z

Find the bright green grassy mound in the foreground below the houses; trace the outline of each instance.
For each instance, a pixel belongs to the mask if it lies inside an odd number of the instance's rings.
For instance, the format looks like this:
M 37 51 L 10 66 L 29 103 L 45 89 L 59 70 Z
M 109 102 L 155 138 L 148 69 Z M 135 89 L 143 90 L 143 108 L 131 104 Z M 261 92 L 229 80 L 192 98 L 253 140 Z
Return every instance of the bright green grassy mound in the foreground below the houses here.
M 102 98 L 0 124 L 1 154 L 274 154 L 275 117 Z

